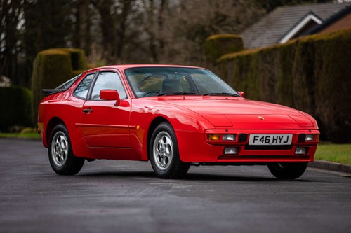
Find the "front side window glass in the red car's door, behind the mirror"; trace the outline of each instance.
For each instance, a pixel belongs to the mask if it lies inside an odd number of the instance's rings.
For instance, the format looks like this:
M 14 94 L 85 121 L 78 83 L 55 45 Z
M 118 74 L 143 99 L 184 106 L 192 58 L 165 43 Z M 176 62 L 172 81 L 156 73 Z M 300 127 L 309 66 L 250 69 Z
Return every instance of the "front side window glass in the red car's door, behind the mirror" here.
M 93 92 L 91 93 L 91 100 L 100 100 L 100 90 L 109 89 L 117 90 L 119 98 L 126 99 L 127 95 L 124 91 L 123 85 L 119 75 L 114 72 L 101 72 L 96 79 L 95 85 L 93 87 Z

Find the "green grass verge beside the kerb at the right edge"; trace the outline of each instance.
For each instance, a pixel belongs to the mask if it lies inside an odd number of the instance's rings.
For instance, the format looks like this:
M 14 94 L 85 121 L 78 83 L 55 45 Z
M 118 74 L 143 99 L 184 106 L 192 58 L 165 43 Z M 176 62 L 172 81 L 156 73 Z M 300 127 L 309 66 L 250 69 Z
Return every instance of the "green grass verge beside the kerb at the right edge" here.
M 319 144 L 314 160 L 351 164 L 351 144 Z

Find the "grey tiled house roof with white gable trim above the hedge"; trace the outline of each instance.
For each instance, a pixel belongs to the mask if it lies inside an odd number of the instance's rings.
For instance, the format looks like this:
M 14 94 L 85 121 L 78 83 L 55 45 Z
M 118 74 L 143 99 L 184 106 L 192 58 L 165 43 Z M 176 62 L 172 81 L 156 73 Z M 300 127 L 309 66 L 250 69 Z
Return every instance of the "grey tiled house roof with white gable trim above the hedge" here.
M 260 48 L 279 43 L 279 41 L 284 43 L 286 38 L 293 36 L 291 31 L 296 31 L 303 22 L 306 22 L 306 19 L 318 21 L 309 15 L 325 22 L 350 5 L 351 3 L 319 3 L 275 8 L 252 27 L 243 31 L 241 37 L 244 41 L 244 48 Z

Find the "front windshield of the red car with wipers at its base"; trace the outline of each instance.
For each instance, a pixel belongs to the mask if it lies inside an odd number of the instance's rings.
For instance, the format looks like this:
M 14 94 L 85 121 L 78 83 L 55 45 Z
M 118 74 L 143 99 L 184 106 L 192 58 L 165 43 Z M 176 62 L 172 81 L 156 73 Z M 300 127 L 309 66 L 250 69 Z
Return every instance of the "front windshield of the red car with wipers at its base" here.
M 136 67 L 124 71 L 136 97 L 160 95 L 239 94 L 206 69 L 181 67 Z

